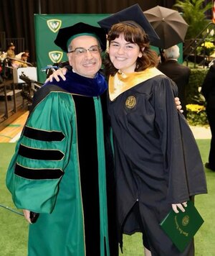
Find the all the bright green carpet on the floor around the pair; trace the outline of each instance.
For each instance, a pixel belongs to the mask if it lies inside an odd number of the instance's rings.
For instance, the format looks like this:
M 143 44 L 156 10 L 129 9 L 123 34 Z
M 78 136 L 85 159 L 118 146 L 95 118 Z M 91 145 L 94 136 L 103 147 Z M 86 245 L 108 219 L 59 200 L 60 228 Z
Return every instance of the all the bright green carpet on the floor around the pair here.
M 210 140 L 197 140 L 201 157 L 206 163 L 209 155 Z M 0 204 L 15 209 L 9 191 L 5 186 L 6 168 L 14 153 L 14 143 L 0 143 Z M 195 256 L 215 255 L 215 230 L 214 230 L 214 198 L 215 198 L 215 173 L 206 169 L 206 180 L 209 193 L 196 196 L 196 208 L 204 218 L 204 224 L 195 236 Z M 0 207 L 0 255 L 1 256 L 24 256 L 27 255 L 27 221 L 24 217 L 14 214 Z M 141 234 L 124 236 L 122 256 L 143 256 Z

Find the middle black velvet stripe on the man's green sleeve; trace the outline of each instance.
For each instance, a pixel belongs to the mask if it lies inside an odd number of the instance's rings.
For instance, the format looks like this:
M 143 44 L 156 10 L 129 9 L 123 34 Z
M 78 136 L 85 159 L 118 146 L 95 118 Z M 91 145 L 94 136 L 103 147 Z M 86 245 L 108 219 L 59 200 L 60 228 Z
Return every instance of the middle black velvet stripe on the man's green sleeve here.
M 19 146 L 19 155 L 22 157 L 31 158 L 34 160 L 62 160 L 64 154 L 59 150 L 40 150 L 38 148 L 26 147 L 24 145 Z

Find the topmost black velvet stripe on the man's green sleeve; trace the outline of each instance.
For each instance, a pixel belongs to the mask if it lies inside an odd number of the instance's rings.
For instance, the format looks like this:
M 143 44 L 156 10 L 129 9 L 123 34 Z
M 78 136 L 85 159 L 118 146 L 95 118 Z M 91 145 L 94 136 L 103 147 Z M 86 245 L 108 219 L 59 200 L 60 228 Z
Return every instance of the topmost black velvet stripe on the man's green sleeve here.
M 62 132 L 44 131 L 32 127 L 25 127 L 23 135 L 29 139 L 42 140 L 44 142 L 60 142 L 65 138 L 65 134 Z

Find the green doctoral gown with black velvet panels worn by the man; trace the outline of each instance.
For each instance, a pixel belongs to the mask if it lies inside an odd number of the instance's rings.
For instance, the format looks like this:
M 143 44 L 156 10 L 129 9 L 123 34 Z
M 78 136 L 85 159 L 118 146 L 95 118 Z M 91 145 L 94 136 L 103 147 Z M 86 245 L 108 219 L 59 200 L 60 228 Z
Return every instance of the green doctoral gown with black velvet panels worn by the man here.
M 38 94 L 6 176 L 16 207 L 39 213 L 29 256 L 110 255 L 100 96 Z

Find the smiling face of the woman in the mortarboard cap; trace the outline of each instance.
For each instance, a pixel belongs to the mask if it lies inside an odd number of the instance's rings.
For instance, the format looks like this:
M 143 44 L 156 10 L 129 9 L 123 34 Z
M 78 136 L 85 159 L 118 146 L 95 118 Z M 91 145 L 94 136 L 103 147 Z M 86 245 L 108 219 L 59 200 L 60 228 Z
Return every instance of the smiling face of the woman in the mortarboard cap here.
M 125 40 L 124 35 L 120 34 L 115 40 L 110 42 L 109 56 L 110 60 L 118 70 L 123 73 L 132 73 L 136 67 L 137 58 L 142 57 L 140 47 Z

